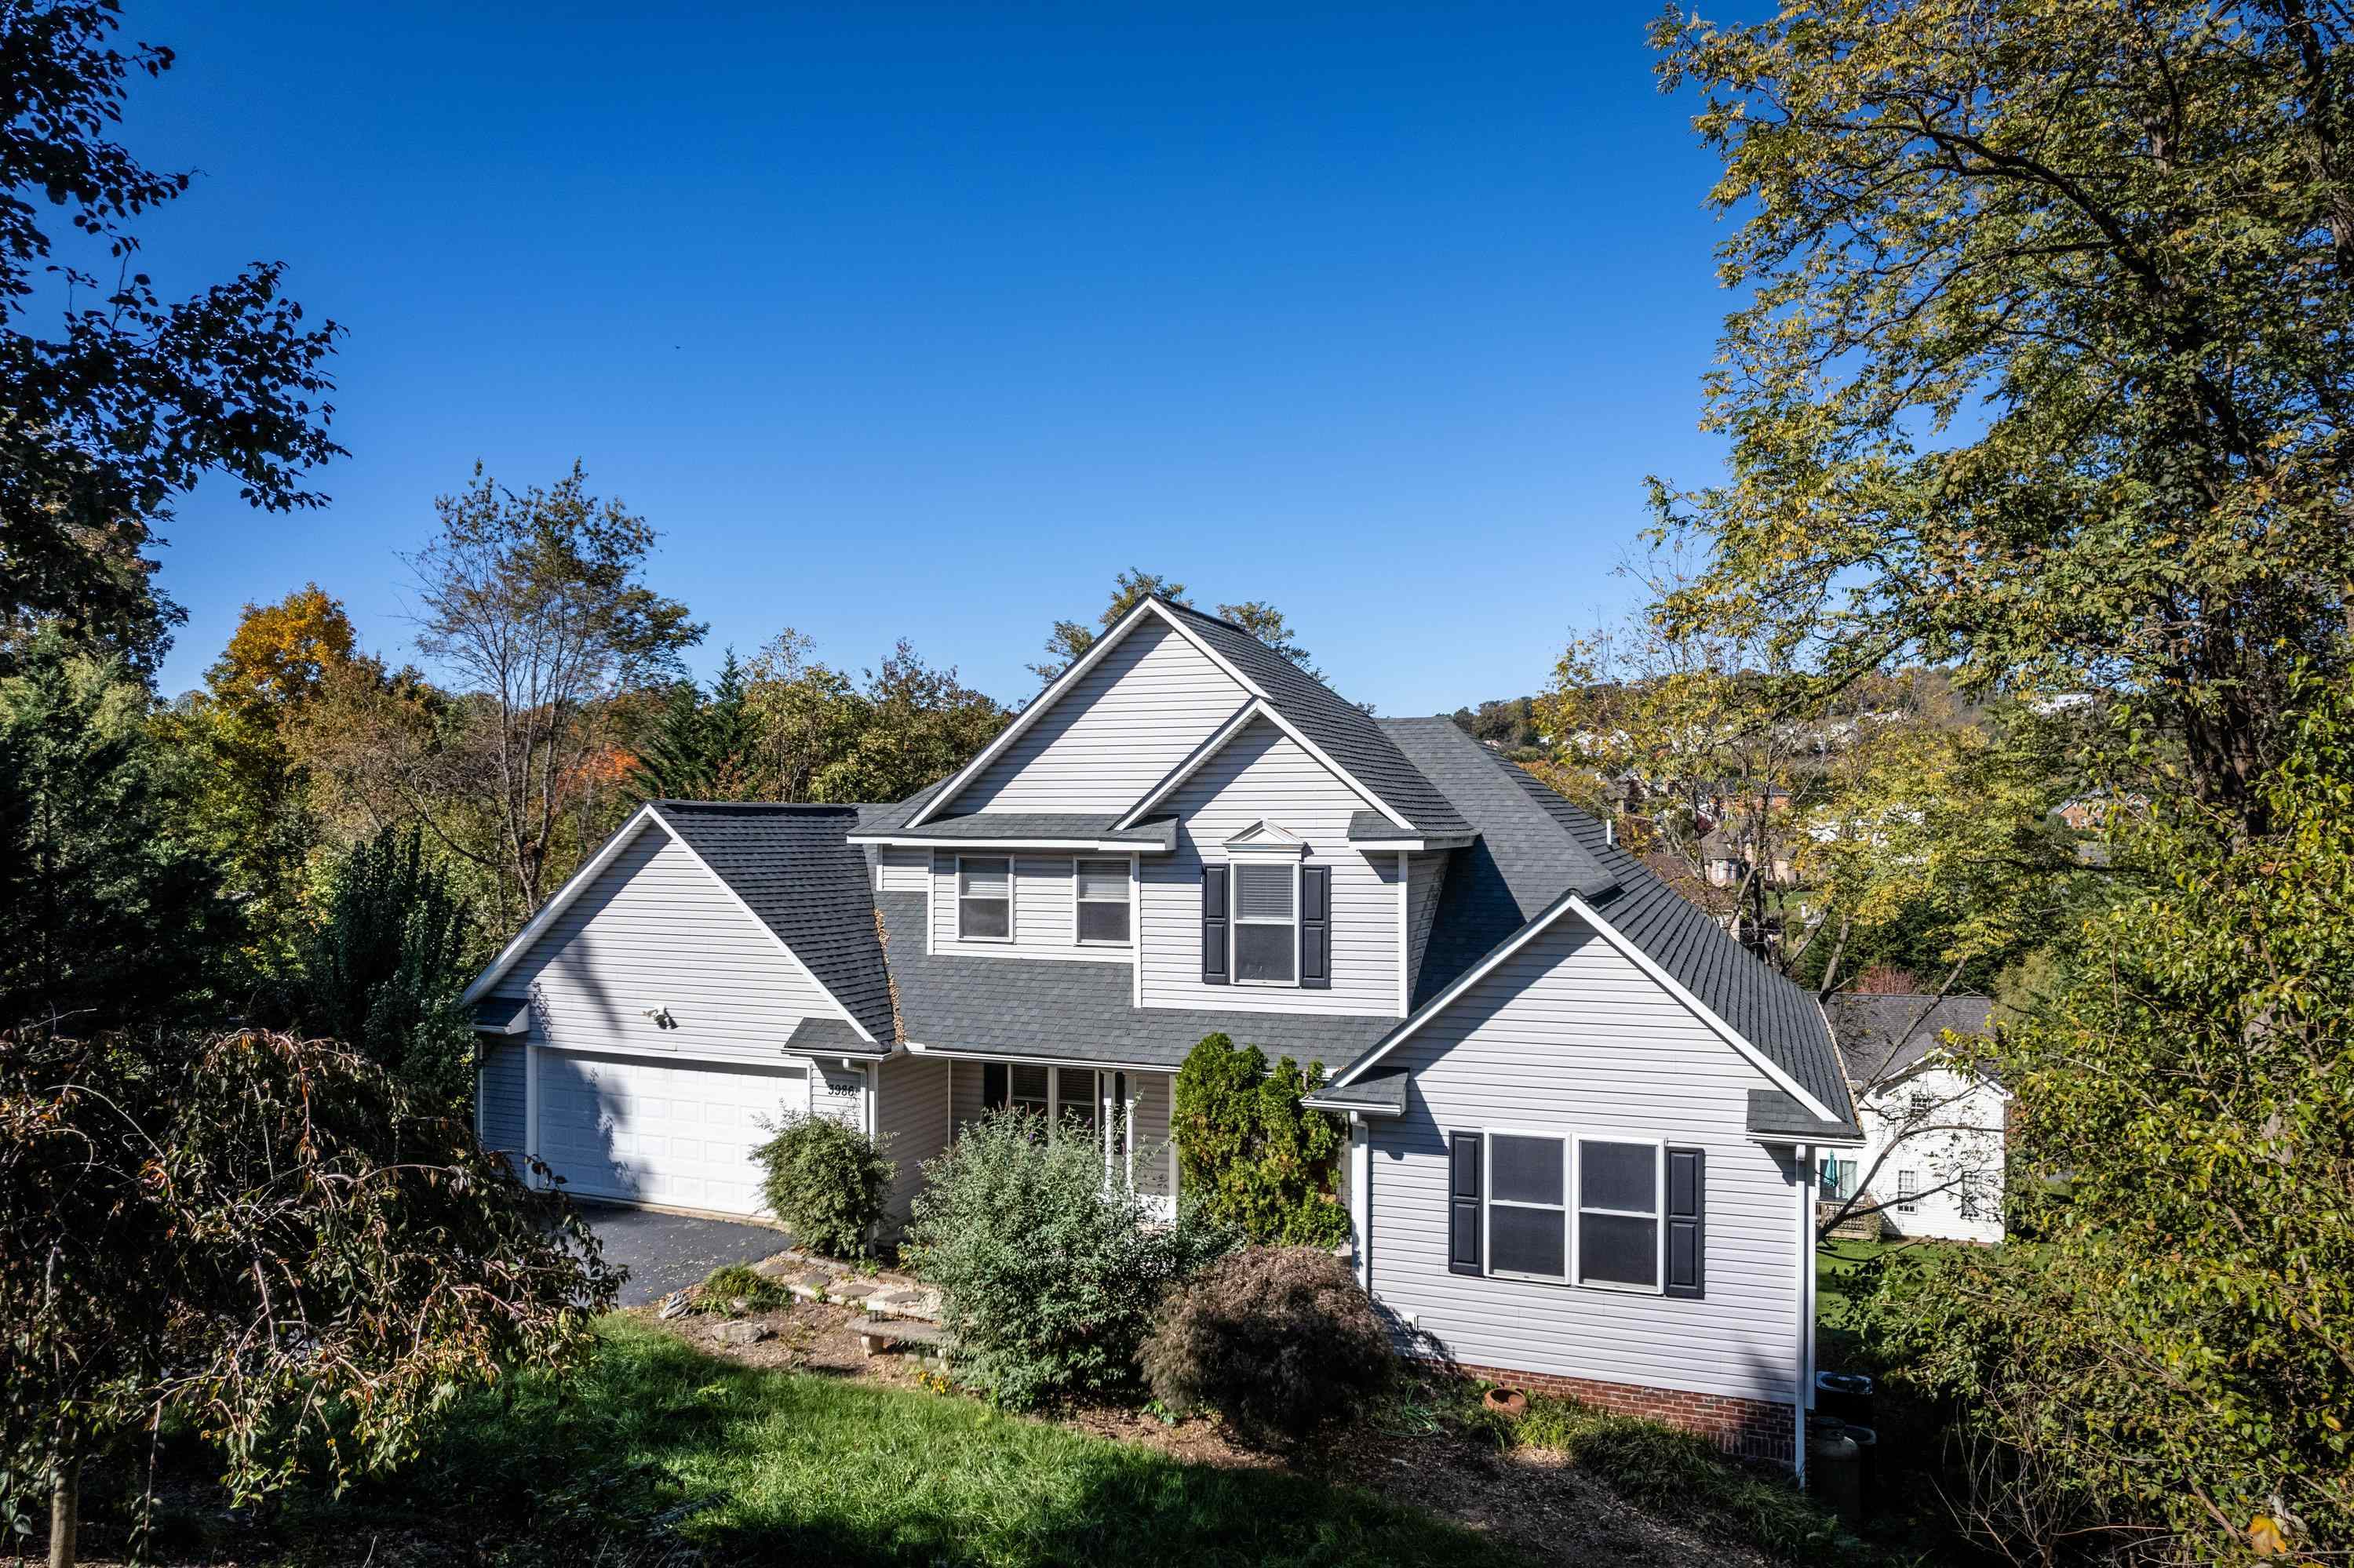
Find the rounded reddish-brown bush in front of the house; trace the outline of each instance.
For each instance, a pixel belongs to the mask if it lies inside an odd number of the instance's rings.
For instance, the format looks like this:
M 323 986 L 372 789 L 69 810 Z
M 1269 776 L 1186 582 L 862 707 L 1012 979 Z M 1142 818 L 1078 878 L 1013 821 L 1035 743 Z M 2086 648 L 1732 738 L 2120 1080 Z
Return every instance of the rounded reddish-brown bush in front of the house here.
M 1144 1344 L 1153 1394 L 1212 1406 L 1252 1441 L 1351 1415 L 1396 1366 L 1349 1264 L 1316 1248 L 1245 1248 L 1177 1290 Z

